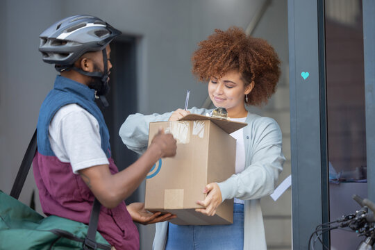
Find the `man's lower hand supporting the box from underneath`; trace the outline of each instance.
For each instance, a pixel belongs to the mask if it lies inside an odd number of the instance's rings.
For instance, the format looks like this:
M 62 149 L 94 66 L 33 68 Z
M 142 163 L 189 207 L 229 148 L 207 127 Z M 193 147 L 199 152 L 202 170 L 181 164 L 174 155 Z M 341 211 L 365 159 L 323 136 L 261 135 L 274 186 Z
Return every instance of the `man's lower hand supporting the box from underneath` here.
M 170 213 L 166 213 L 164 215 L 162 215 L 160 212 L 149 213 L 144 209 L 144 203 L 141 202 L 131 203 L 126 206 L 126 209 L 130 213 L 134 222 L 144 225 L 165 222 L 168 219 L 176 218 L 176 215 L 172 215 Z

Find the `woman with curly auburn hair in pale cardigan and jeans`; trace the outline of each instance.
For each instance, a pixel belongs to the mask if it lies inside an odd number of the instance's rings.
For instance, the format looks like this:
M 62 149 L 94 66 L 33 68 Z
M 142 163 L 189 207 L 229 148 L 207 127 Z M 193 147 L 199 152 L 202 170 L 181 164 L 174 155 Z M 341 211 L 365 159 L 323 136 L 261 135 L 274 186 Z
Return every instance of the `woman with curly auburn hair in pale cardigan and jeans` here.
M 261 106 L 274 94 L 280 76 L 278 56 L 265 40 L 250 38 L 240 28 L 215 30 L 199 43 L 192 56 L 192 72 L 208 81 L 208 94 L 228 117 L 247 126 L 231 135 L 237 140 L 235 174 L 222 183 L 210 183 L 197 201 L 197 212 L 215 215 L 225 199 L 235 198 L 233 224 L 178 226 L 156 224 L 153 249 L 267 249 L 260 198 L 272 194 L 283 169 L 281 131 L 274 119 L 251 114 L 245 105 Z M 129 149 L 147 149 L 149 122 L 176 121 L 206 109 L 178 109 L 163 115 L 130 115 L 120 128 Z

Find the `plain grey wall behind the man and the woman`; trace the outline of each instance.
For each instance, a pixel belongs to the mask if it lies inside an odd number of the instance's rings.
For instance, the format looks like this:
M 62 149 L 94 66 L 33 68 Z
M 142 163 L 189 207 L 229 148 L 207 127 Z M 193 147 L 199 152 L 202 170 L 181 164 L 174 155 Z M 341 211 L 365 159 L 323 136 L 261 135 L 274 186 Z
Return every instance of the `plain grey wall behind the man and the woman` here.
M 191 90 L 190 107 L 202 105 L 206 85 L 190 73 L 190 56 L 197 42 L 215 28 L 247 28 L 263 1 L 1 1 L 0 189 L 10 192 L 40 105 L 53 87 L 56 72 L 42 62 L 38 52 L 38 35 L 53 22 L 69 15 L 96 15 L 123 33 L 140 37 L 139 111 L 161 113 L 183 107 L 187 89 Z M 281 60 L 288 62 L 286 1 L 272 4 L 254 35 L 264 36 Z M 29 174 L 21 201 L 29 202 L 32 188 L 35 184 Z M 142 249 L 150 249 L 153 226 L 141 226 L 141 235 Z

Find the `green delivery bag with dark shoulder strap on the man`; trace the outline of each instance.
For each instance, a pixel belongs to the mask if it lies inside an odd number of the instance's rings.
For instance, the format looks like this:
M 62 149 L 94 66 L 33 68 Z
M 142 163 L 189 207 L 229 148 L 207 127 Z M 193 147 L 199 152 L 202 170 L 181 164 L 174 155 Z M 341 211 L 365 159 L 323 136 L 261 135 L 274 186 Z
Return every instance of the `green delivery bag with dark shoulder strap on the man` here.
M 104 249 L 108 242 L 97 233 L 101 204 L 94 200 L 89 226 L 51 215 L 43 217 L 18 201 L 35 151 L 36 131 L 26 150 L 10 196 L 0 190 L 0 250 L 5 249 Z

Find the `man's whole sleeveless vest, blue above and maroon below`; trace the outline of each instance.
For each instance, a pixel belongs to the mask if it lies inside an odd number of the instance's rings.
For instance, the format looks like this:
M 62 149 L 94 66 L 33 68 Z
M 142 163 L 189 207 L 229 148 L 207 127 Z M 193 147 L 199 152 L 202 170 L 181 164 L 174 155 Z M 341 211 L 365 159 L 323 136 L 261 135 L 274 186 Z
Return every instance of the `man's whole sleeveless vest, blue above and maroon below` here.
M 38 119 L 38 151 L 33 160 L 35 183 L 40 204 L 46 215 L 57 215 L 76 222 L 89 223 L 94 194 L 80 175 L 72 172 L 70 163 L 63 163 L 55 156 L 49 144 L 48 129 L 53 115 L 63 106 L 76 103 L 99 122 L 101 148 L 108 157 L 109 170 L 118 169 L 110 158 L 109 133 L 101 110 L 94 102 L 94 90 L 63 76 L 57 76 L 55 86 L 40 108 Z M 124 202 L 116 208 L 101 207 L 99 233 L 116 249 L 140 249 L 140 238 Z

